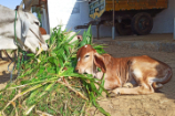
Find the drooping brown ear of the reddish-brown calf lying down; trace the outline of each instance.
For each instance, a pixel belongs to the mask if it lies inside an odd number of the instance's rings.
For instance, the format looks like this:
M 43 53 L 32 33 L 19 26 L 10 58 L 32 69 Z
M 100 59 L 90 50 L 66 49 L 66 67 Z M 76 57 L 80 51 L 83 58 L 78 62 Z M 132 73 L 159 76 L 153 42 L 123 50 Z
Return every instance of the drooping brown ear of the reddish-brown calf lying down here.
M 104 57 L 100 55 L 99 53 L 94 53 L 94 63 L 97 67 L 102 70 L 103 73 L 106 72 L 106 67 L 104 64 Z

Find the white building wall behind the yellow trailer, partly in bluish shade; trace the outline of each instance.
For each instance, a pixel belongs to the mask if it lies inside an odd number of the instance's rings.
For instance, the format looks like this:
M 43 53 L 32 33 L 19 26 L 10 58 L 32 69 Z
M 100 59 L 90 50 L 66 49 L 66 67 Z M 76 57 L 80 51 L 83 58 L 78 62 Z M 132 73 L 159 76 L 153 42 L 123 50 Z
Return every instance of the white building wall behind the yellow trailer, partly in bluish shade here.
M 83 2 L 80 2 L 83 1 Z M 59 24 L 63 25 L 62 30 L 74 30 L 76 25 L 83 25 L 90 22 L 89 3 L 85 0 L 48 0 L 48 13 L 50 28 Z M 168 0 L 168 8 L 154 18 L 152 33 L 173 33 L 175 18 L 175 0 Z M 81 29 L 80 34 L 83 33 Z M 96 27 L 92 27 L 92 33 L 96 36 Z M 111 36 L 112 27 L 100 27 L 100 36 Z

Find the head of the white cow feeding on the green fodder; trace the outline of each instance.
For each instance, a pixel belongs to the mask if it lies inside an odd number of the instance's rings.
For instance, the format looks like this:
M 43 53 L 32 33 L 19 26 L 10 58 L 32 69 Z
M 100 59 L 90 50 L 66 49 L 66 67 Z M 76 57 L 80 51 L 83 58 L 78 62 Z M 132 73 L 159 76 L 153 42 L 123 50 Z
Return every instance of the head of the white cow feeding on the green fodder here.
M 37 49 L 42 48 L 44 51 L 48 50 L 48 44 L 45 40 L 50 35 L 41 35 L 40 32 L 40 22 L 39 20 L 30 12 L 31 6 L 23 9 L 23 1 L 21 2 L 18 9 L 17 18 L 17 38 L 18 45 L 24 51 L 31 51 L 35 53 Z

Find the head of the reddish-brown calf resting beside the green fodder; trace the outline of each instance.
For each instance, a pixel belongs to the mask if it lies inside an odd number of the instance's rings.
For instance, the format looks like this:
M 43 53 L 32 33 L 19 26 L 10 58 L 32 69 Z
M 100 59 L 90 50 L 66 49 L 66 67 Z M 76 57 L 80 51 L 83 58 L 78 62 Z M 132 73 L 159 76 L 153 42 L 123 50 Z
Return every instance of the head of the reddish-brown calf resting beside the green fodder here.
M 100 55 L 90 44 L 79 49 L 76 53 L 78 64 L 75 71 L 78 73 L 94 74 L 96 66 L 105 72 L 104 57 Z

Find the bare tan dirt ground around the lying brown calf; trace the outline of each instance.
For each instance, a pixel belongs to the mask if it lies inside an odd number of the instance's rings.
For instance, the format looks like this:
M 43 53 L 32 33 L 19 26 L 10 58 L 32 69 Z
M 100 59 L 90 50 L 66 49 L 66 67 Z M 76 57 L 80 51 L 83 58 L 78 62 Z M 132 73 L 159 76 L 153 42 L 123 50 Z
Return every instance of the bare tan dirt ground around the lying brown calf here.
M 171 82 L 159 92 L 151 95 L 121 95 L 113 98 L 100 97 L 99 104 L 111 116 L 175 116 L 175 53 L 151 52 L 146 50 L 126 49 L 110 44 L 105 51 L 115 57 L 150 55 L 167 63 L 173 68 Z M 10 78 L 7 71 L 9 62 L 0 61 L 0 88 Z M 89 109 L 90 116 L 103 116 L 95 108 Z

